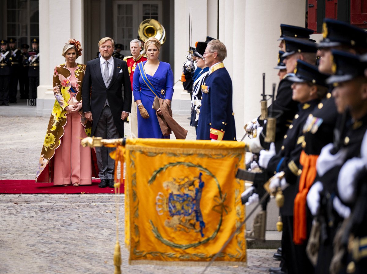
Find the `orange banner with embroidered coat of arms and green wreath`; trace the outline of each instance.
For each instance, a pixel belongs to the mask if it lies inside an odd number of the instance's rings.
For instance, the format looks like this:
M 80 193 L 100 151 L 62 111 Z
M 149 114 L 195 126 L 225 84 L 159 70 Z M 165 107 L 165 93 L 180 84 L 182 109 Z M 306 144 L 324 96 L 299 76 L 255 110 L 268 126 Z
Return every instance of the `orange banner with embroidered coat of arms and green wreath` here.
M 207 264 L 244 220 L 235 178 L 244 143 L 127 139 L 125 242 L 131 264 Z M 245 227 L 214 265 L 246 266 Z

